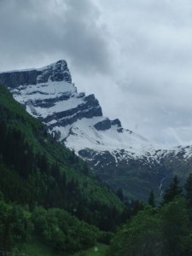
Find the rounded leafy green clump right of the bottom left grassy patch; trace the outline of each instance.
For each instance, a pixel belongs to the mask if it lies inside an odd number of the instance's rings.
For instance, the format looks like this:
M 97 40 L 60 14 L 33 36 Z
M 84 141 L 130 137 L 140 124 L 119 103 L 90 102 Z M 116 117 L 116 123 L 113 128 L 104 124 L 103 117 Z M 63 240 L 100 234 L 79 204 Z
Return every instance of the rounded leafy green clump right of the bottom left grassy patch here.
M 52 208 L 46 211 L 35 207 L 32 212 L 35 232 L 56 250 L 75 252 L 95 244 L 99 230 L 79 221 L 67 212 Z

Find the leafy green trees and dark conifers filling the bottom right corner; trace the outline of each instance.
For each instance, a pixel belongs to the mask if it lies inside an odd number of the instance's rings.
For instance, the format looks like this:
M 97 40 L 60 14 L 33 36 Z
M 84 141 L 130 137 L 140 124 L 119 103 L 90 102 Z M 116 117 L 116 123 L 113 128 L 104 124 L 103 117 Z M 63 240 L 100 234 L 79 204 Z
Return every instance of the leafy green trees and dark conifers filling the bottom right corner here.
M 183 187 L 177 176 L 165 190 L 160 206 L 154 194 L 148 205 L 124 224 L 108 249 L 108 256 L 192 255 L 192 174 Z

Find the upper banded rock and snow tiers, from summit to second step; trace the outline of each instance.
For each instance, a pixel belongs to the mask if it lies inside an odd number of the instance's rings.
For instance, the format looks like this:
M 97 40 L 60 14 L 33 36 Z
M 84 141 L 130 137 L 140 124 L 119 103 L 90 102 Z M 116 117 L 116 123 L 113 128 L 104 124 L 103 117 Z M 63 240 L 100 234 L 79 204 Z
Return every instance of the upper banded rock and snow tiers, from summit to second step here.
M 93 94 L 85 96 L 84 92 L 77 92 L 66 61 L 34 70 L 0 73 L 0 84 L 8 87 L 33 116 L 47 124 L 57 139 L 61 135 L 55 131 L 58 126 L 102 116 L 102 108 Z

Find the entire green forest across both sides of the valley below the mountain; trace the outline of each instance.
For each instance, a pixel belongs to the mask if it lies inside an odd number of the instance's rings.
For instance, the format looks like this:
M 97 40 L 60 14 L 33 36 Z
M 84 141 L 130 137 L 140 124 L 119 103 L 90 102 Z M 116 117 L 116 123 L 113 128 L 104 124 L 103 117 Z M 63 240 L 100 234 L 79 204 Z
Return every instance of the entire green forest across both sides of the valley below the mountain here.
M 31 256 L 30 245 L 49 251 L 37 256 L 192 255 L 192 175 L 158 204 L 153 191 L 130 201 L 0 86 L 0 251 Z

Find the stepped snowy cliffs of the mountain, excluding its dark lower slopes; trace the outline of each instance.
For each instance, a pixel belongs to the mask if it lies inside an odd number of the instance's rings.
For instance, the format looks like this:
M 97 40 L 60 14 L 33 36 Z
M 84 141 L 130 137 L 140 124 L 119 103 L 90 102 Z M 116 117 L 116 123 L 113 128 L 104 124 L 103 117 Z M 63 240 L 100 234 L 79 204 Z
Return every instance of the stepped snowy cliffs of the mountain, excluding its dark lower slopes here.
M 122 147 L 130 145 L 131 140 L 148 144 L 143 137 L 123 129 L 119 119 L 103 117 L 94 95 L 78 93 L 66 61 L 38 69 L 0 73 L 0 84 L 7 86 L 15 100 L 77 153 L 84 148 Z

